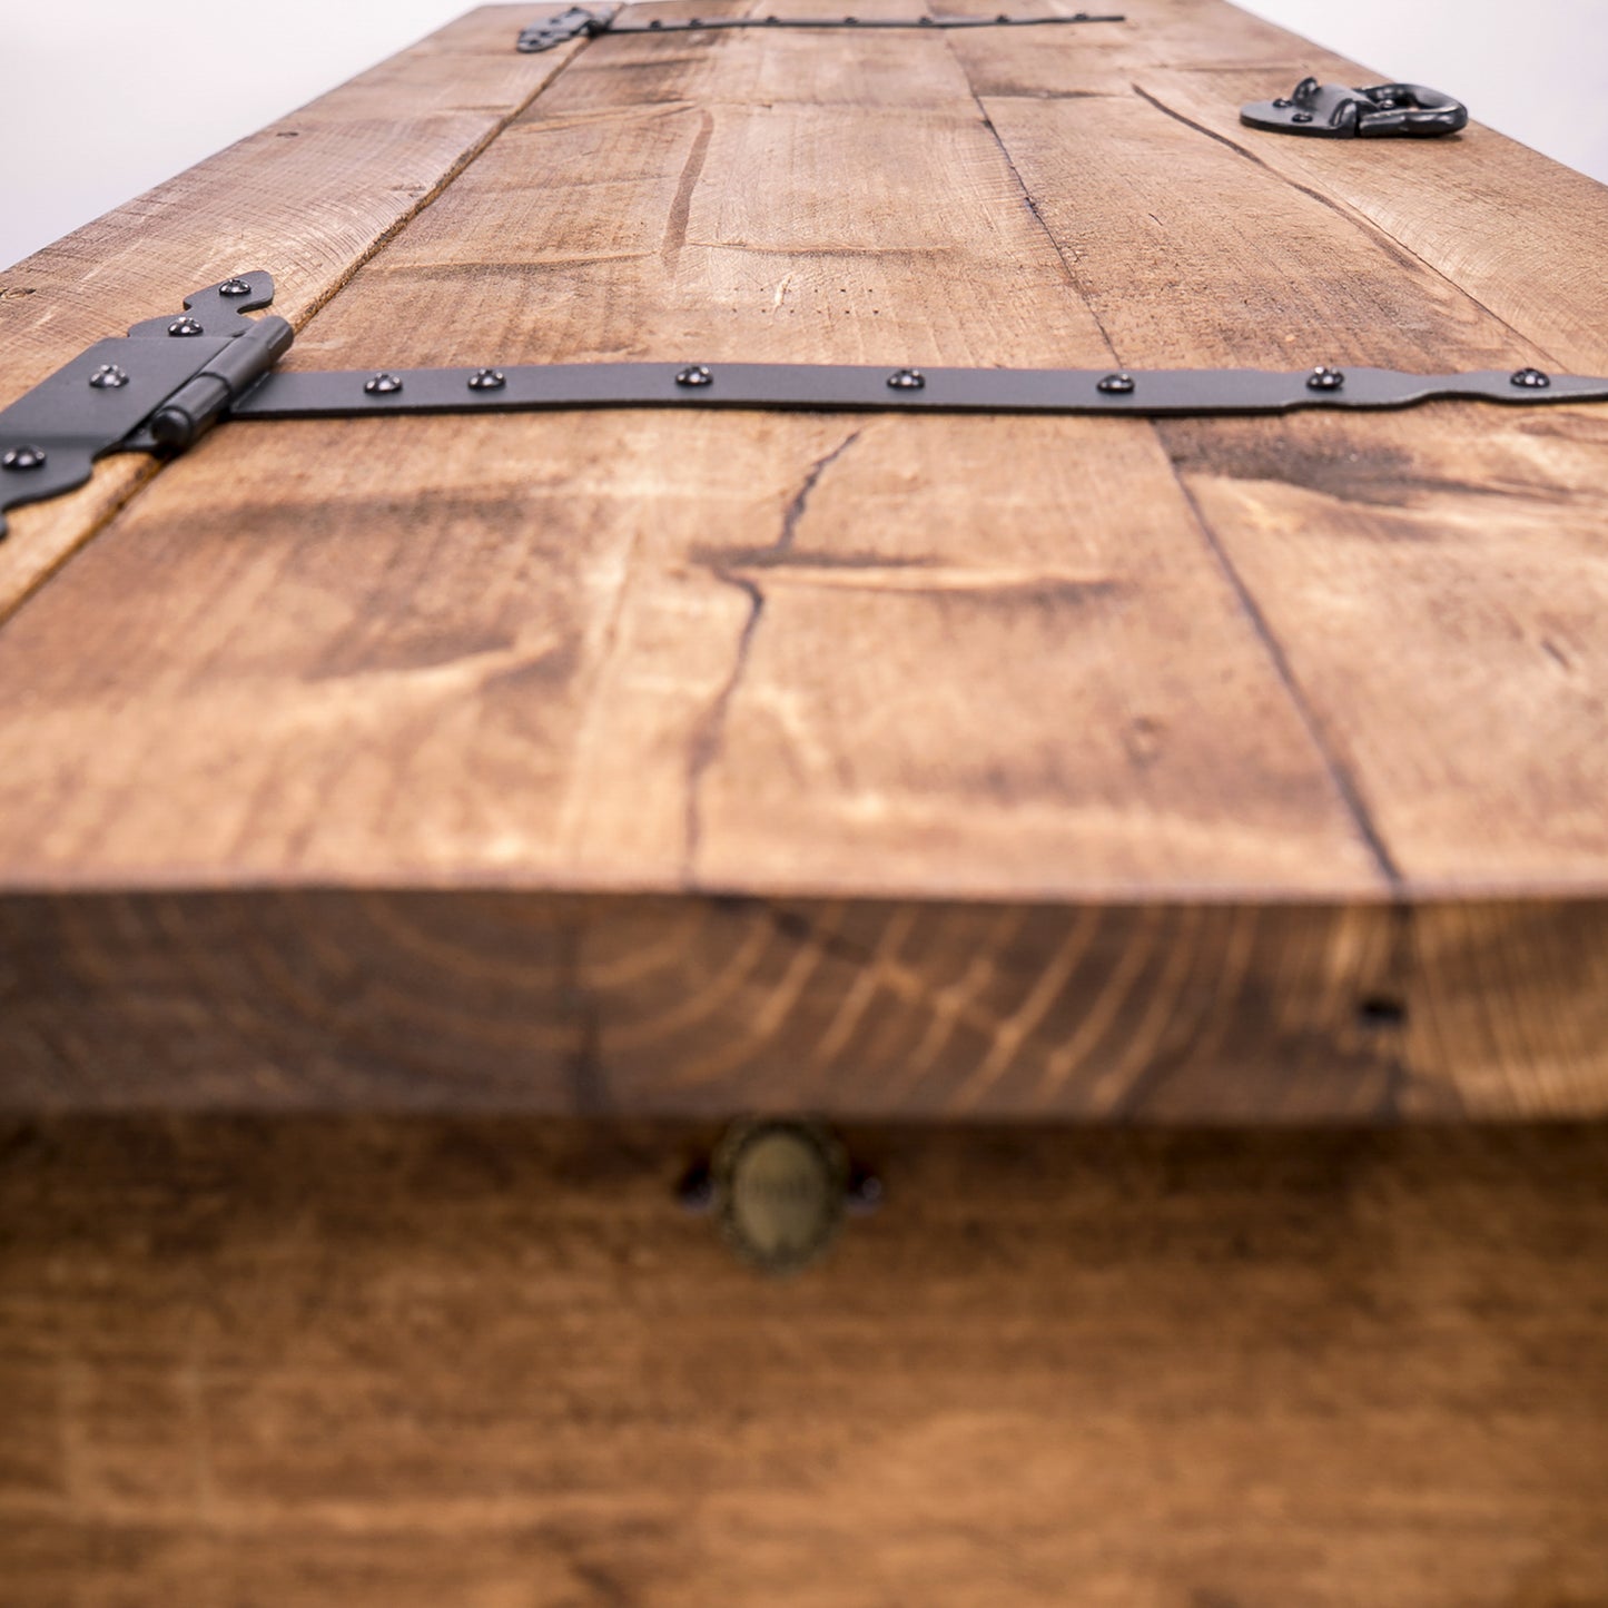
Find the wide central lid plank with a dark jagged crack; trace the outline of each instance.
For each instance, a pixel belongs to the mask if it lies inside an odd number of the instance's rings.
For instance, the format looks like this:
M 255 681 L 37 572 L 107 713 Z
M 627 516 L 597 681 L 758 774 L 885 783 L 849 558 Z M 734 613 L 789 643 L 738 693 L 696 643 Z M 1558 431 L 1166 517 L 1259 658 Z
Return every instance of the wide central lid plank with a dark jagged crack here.
M 942 35 L 831 37 L 892 105 L 709 87 L 820 55 L 786 31 L 674 40 L 643 103 L 664 43 L 589 47 L 293 363 L 396 362 L 399 318 L 420 363 L 1110 360 Z M 330 439 L 214 437 L 0 637 L 42 691 L 0 728 L 13 886 L 1384 891 L 1145 423 Z

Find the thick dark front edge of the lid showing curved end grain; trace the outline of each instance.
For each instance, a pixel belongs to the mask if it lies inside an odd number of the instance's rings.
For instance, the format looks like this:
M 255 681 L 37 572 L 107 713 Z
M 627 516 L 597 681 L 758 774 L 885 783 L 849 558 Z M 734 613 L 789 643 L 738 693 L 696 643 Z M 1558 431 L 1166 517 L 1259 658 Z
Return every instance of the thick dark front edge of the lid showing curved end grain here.
M 1608 905 L 0 902 L 0 1110 L 1608 1113 Z

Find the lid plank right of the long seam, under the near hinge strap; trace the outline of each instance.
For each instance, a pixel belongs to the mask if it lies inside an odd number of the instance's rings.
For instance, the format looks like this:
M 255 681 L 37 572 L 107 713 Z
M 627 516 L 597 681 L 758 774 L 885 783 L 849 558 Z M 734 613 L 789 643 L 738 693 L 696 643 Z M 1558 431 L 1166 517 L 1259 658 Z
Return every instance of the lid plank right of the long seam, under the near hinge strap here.
M 1143 77 L 1130 95 L 986 105 L 1132 367 L 1552 362 L 1360 214 L 1209 137 Z M 1159 434 L 1396 881 L 1600 894 L 1602 410 L 1179 421 Z

